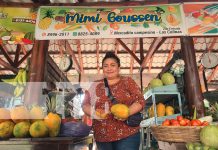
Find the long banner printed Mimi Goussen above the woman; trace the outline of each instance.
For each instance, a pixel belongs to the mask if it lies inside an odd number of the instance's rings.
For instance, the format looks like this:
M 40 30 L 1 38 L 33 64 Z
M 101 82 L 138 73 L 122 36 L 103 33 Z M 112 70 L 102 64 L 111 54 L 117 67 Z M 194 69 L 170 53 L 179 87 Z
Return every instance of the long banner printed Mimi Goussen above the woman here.
M 134 7 L 42 6 L 36 39 L 87 39 L 180 36 L 182 5 Z

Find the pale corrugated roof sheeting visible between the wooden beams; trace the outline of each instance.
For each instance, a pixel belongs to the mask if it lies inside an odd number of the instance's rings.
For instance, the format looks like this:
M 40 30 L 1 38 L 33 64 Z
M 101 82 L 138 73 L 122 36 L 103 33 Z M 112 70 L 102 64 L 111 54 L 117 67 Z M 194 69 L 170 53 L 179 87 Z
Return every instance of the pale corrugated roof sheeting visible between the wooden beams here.
M 198 37 L 195 41 L 195 50 L 196 50 L 196 61 L 199 64 L 200 58 L 204 52 L 207 51 L 207 49 L 212 44 L 214 38 L 217 37 Z M 121 39 L 127 47 L 133 51 L 134 41 L 135 39 Z M 168 59 L 169 52 L 172 47 L 174 38 L 167 38 L 166 41 L 160 46 L 160 48 L 155 52 L 153 56 L 153 60 L 151 63 L 151 69 L 149 70 L 148 67 L 145 68 L 144 73 L 159 73 L 162 68 L 166 65 L 166 61 Z M 139 40 L 136 40 L 136 49 L 135 54 L 138 58 L 140 58 L 140 52 L 139 52 Z M 153 38 L 143 38 L 143 52 L 144 56 L 147 54 L 148 49 L 153 41 Z M 77 40 L 68 40 L 68 42 L 71 45 L 72 50 L 75 53 L 75 56 L 77 60 L 79 61 L 79 54 L 78 54 L 78 45 Z M 105 52 L 107 51 L 114 51 L 117 48 L 117 55 L 121 59 L 121 73 L 122 74 L 137 74 L 139 73 L 139 64 L 134 60 L 133 62 L 133 70 L 131 72 L 131 61 L 133 60 L 131 55 L 123 48 L 122 45 L 118 45 L 116 47 L 116 39 L 99 39 L 99 60 L 97 62 L 97 51 L 96 51 L 96 39 L 84 39 L 80 40 L 80 49 L 81 49 L 81 58 L 83 61 L 83 69 L 85 74 L 97 74 L 97 66 L 101 67 L 101 61 L 105 55 Z M 12 57 L 14 57 L 15 51 L 16 51 L 16 45 L 5 45 L 8 52 L 10 52 Z M 32 45 L 25 45 L 25 49 L 28 51 L 32 48 Z M 65 46 L 63 46 L 65 47 Z M 180 39 L 177 38 L 176 44 L 174 45 L 174 52 L 179 51 L 181 49 Z M 212 51 L 215 52 L 218 55 L 218 40 L 216 40 Z M 51 40 L 49 45 L 49 53 L 50 56 L 54 59 L 54 61 L 59 65 L 60 62 L 60 51 L 58 46 L 58 41 Z M 22 52 L 21 52 L 22 54 Z M 22 57 L 23 55 L 21 55 Z M 0 56 L 2 59 L 4 59 L 6 62 L 7 60 L 4 58 L 3 55 Z M 21 67 L 24 67 L 26 64 L 24 62 Z M 97 64 L 98 63 L 98 64 Z M 75 63 L 74 63 L 75 64 Z M 148 65 L 147 65 L 148 66 Z M 207 75 L 210 75 L 210 70 L 206 70 Z M 0 74 L 5 74 L 10 72 L 1 71 Z M 75 70 L 74 66 L 73 68 L 68 72 L 69 75 L 77 75 L 77 71 Z M 215 80 L 218 80 L 218 74 L 215 75 Z

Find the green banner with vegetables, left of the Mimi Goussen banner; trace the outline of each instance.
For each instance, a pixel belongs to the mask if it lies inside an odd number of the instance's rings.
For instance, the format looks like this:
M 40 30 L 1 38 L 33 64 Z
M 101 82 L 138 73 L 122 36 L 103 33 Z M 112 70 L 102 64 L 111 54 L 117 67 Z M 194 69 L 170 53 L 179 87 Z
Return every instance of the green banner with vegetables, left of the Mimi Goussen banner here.
M 0 7 L 0 44 L 32 44 L 37 10 Z

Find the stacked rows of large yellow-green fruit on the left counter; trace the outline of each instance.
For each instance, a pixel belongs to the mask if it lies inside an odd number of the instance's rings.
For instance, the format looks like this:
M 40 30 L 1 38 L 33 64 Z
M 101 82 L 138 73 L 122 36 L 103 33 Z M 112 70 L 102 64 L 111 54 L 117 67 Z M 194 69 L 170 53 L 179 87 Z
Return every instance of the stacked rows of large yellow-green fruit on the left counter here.
M 10 137 L 56 137 L 60 131 L 61 118 L 48 106 L 45 115 L 42 107 L 17 106 L 8 110 L 0 108 L 0 138 Z

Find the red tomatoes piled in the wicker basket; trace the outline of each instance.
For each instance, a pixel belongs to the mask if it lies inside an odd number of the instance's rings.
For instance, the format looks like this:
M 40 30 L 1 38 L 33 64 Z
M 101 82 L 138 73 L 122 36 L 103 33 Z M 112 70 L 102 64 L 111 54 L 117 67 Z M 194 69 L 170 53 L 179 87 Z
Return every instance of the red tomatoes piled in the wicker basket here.
M 207 120 L 207 121 L 206 121 Z M 162 122 L 162 126 L 207 126 L 210 123 L 210 118 L 204 119 L 186 119 L 183 116 L 177 116 L 176 119 L 166 119 Z

